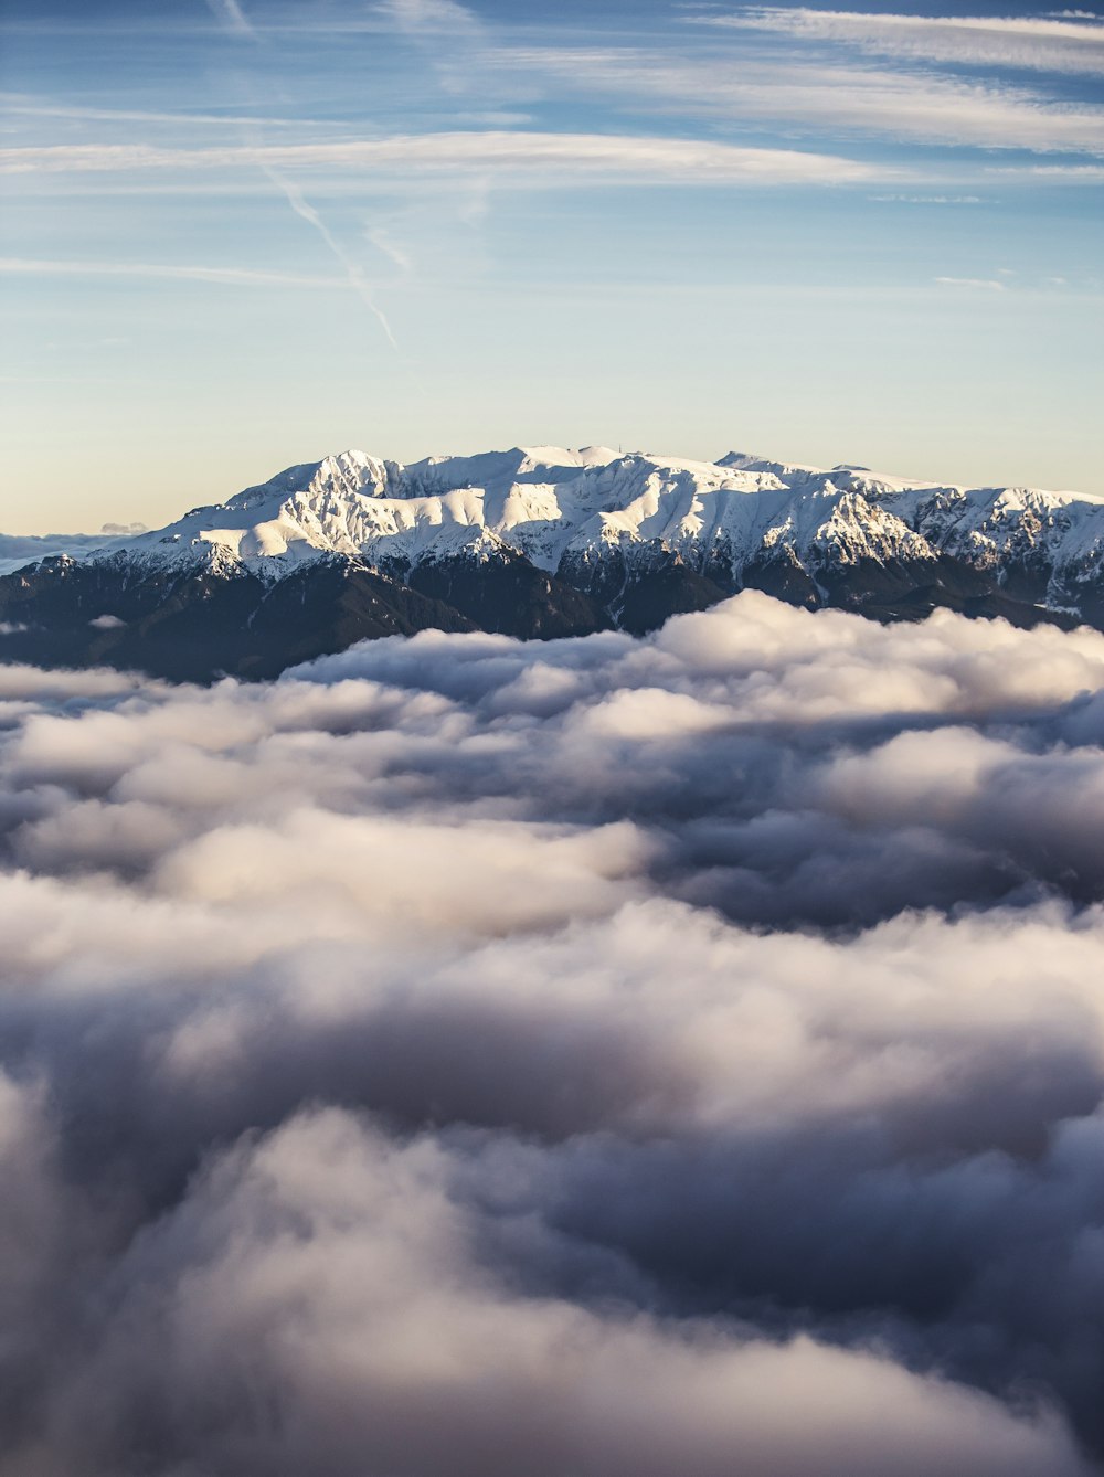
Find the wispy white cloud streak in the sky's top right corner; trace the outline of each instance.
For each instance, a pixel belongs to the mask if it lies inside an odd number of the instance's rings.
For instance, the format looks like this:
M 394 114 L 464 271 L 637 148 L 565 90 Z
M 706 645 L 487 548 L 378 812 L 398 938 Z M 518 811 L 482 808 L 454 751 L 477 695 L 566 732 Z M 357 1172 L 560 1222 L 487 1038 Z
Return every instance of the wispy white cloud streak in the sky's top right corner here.
M 1073 12 L 1066 12 L 1071 16 Z M 842 41 L 875 56 L 1015 66 L 1049 72 L 1104 72 L 1104 27 L 1082 19 L 924 16 L 758 6 L 737 15 L 692 16 L 696 25 L 774 31 L 810 41 Z

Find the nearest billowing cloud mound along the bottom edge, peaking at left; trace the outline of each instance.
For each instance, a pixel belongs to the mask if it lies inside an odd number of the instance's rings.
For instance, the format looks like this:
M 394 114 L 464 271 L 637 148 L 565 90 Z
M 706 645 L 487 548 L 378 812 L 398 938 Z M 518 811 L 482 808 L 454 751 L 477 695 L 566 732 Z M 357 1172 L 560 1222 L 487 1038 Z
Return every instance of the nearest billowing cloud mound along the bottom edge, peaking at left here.
M 52 1470 L 118 1470 L 124 1419 L 239 1473 L 1085 1471 L 1054 1422 L 876 1354 L 526 1295 L 448 1179 L 334 1111 L 213 1161 L 121 1258 Z

